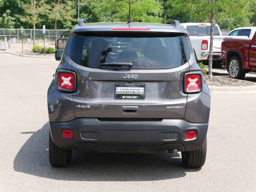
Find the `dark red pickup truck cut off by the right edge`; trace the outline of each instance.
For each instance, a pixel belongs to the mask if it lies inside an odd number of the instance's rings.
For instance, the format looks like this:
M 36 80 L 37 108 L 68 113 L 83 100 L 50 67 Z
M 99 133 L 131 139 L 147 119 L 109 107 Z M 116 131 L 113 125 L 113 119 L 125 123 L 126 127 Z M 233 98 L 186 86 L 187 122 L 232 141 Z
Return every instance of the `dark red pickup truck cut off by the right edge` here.
M 252 39 L 224 38 L 221 57 L 234 79 L 243 79 L 248 72 L 256 74 L 256 32 Z

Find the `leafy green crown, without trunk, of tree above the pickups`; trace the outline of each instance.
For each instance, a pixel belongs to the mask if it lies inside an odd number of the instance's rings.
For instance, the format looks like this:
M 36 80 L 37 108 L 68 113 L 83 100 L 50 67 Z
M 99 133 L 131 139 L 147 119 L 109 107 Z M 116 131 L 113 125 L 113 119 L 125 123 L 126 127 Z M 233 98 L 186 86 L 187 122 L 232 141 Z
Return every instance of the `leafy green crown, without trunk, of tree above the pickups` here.
M 252 1 L 255 2 L 255 0 L 168 0 L 166 4 L 169 7 L 168 14 L 186 14 L 195 22 L 217 24 L 224 18 L 250 16 Z

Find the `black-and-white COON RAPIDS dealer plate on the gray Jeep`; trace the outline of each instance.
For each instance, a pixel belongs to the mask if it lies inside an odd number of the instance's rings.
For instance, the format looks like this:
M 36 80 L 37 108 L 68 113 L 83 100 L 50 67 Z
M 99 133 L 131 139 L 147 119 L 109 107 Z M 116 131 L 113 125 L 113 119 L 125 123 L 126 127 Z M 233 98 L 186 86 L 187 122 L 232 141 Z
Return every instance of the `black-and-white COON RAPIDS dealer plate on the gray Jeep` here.
M 116 83 L 116 99 L 144 99 L 145 84 L 136 83 Z

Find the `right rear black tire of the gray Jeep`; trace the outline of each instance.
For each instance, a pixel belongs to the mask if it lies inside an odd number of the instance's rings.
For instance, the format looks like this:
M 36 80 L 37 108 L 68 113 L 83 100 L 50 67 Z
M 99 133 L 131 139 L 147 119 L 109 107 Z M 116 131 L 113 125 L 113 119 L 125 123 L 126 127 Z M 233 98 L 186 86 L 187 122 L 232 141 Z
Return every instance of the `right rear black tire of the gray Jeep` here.
M 200 148 L 193 151 L 181 152 L 184 166 L 187 168 L 201 168 L 206 159 L 206 146 L 207 139 L 205 139 L 204 144 Z

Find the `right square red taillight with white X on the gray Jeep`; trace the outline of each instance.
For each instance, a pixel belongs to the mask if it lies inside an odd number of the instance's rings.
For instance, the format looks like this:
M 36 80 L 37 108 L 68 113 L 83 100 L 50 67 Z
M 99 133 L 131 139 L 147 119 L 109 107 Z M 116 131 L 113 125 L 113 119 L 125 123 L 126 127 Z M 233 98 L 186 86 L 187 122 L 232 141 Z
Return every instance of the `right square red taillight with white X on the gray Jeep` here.
M 185 74 L 184 76 L 184 92 L 198 93 L 202 90 L 201 74 Z

